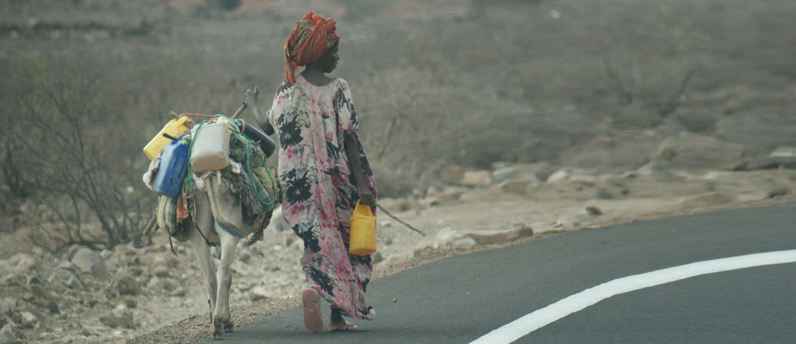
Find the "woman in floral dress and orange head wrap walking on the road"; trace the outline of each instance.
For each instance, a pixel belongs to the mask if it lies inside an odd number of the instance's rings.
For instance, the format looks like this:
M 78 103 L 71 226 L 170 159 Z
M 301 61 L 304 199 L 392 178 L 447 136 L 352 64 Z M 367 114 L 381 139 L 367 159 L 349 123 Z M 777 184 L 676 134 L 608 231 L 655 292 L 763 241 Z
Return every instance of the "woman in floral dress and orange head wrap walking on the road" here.
M 285 42 L 285 80 L 267 115 L 257 106 L 259 90 L 244 104 L 260 127 L 279 133 L 282 213 L 304 240 L 301 264 L 304 325 L 323 329 L 319 297 L 331 304 L 329 330 L 356 330 L 342 315 L 373 319 L 365 303 L 373 265 L 370 256 L 348 253 L 349 218 L 357 200 L 376 205 L 376 182 L 357 138 L 357 112 L 348 84 L 325 74 L 337 67 L 338 41 L 331 18 L 306 14 Z M 298 66 L 306 66 L 295 73 Z

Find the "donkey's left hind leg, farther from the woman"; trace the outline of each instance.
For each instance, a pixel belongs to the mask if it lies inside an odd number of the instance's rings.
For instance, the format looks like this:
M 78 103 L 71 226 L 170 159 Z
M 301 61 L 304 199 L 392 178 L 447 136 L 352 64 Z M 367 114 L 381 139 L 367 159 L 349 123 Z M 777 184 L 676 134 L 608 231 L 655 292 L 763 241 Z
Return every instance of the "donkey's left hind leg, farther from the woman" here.
M 189 240 L 193 245 L 193 251 L 196 252 L 197 261 L 203 274 L 205 274 L 205 287 L 207 288 L 208 303 L 210 310 L 210 323 L 213 323 L 213 311 L 216 309 L 216 295 L 217 280 L 216 280 L 216 264 L 213 262 L 213 257 L 210 254 L 210 248 L 205 241 L 205 237 L 210 237 L 210 232 L 213 231 L 213 210 L 210 209 L 210 201 L 207 194 L 201 190 L 197 190 L 195 194 L 196 212 L 193 213 L 192 229 L 189 232 Z M 198 231 L 201 230 L 205 234 Z

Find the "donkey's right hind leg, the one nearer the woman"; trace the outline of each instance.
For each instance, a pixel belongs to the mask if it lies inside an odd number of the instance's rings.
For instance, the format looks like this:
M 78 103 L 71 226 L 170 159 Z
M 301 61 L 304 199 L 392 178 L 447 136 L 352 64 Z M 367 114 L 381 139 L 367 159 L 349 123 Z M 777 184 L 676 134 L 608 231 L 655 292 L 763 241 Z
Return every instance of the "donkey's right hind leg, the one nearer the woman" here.
M 232 287 L 230 266 L 235 259 L 235 249 L 240 237 L 227 233 L 216 222 L 216 232 L 221 241 L 221 261 L 218 264 L 217 280 L 218 295 L 216 310 L 213 312 L 213 338 L 220 339 L 224 331 L 232 331 L 232 319 L 229 315 L 229 287 Z

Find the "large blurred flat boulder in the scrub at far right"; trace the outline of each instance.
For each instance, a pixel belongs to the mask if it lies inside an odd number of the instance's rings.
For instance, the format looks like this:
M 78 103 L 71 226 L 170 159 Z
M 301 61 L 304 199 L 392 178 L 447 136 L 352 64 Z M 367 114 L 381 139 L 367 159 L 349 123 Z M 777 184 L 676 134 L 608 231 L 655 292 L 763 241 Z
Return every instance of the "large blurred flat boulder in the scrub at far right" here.
M 671 168 L 730 170 L 737 165 L 743 151 L 742 145 L 684 131 L 677 138 L 666 138 L 650 161 Z

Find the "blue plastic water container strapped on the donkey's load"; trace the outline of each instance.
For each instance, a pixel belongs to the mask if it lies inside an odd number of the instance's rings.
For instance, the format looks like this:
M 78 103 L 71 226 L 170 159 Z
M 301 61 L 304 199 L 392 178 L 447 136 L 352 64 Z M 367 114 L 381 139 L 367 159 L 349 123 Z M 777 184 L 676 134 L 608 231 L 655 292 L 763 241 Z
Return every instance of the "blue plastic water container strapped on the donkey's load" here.
M 186 140 L 169 141 L 166 148 L 163 148 L 160 169 L 152 181 L 152 190 L 168 197 L 177 197 L 182 189 L 185 175 L 188 174 L 187 162 L 190 146 Z

